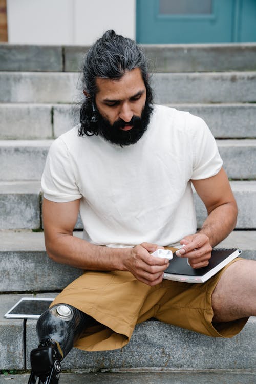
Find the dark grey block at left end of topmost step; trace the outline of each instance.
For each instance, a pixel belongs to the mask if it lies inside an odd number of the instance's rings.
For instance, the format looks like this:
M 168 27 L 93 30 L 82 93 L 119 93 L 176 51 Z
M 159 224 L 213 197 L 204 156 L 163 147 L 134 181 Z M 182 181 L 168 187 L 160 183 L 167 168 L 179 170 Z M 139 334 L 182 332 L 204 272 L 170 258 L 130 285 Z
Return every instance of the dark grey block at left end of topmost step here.
M 62 47 L 2 43 L 0 71 L 62 71 Z

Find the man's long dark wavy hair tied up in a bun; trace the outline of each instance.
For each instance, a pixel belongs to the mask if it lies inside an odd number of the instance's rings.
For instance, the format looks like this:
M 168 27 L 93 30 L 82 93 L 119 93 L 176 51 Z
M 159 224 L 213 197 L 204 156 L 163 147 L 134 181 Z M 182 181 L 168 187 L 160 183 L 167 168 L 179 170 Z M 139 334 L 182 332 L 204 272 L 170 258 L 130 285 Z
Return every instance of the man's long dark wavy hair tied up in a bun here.
M 120 79 L 125 71 L 140 68 L 146 88 L 146 103 L 152 105 L 153 92 L 148 76 L 148 62 L 142 48 L 134 40 L 116 35 L 108 30 L 89 49 L 83 61 L 82 90 L 86 92 L 80 108 L 79 136 L 98 135 L 95 94 L 97 93 L 96 78 L 112 80 Z

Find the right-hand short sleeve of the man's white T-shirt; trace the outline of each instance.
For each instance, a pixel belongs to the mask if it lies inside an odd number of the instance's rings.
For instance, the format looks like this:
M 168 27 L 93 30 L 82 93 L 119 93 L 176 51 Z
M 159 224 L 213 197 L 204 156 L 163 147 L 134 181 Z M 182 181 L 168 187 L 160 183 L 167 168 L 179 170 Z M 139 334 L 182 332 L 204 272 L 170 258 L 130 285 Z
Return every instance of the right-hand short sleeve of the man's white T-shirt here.
M 190 115 L 191 116 L 191 115 Z M 200 117 L 193 116 L 191 121 L 193 135 L 193 173 L 191 179 L 207 179 L 220 171 L 223 161 L 217 143 L 207 124 Z

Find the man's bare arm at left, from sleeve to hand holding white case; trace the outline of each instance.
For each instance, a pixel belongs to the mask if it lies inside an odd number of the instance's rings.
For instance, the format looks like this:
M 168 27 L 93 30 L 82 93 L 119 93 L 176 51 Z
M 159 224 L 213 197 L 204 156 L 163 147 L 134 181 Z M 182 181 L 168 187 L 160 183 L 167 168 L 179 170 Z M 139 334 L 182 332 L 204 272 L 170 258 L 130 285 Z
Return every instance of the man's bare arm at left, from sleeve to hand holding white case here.
M 162 281 L 165 259 L 150 255 L 158 246 L 142 243 L 134 248 L 108 248 L 73 236 L 80 200 L 55 203 L 44 199 L 42 215 L 49 257 L 56 262 L 87 270 L 130 271 L 138 280 L 155 285 Z

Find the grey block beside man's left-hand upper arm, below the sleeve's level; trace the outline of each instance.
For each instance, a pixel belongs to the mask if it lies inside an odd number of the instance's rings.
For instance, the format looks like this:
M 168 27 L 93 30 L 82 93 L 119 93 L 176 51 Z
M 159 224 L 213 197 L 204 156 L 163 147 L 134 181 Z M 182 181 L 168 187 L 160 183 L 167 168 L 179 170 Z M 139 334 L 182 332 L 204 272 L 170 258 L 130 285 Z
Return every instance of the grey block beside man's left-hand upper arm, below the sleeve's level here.
M 0 182 L 0 229 L 40 227 L 40 183 Z

